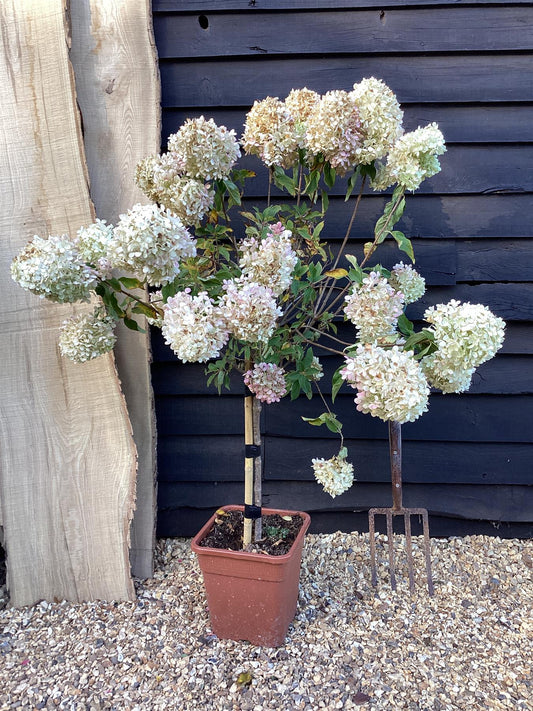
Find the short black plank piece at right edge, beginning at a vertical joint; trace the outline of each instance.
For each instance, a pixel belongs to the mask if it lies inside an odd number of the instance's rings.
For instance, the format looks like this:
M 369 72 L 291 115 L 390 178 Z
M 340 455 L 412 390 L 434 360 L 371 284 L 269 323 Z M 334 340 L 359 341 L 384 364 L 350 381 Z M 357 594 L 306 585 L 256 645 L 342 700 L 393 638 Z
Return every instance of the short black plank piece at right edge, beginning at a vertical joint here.
M 533 281 L 533 240 L 458 241 L 458 281 Z

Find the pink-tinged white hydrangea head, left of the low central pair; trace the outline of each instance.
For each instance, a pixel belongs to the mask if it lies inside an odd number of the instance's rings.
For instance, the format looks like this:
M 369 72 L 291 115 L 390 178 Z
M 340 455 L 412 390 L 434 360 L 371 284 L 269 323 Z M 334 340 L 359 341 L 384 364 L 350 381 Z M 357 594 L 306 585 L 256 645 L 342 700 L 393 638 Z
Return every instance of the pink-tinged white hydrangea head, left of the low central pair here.
M 185 289 L 163 306 L 161 332 L 165 342 L 184 363 L 204 363 L 217 358 L 229 333 L 221 309 L 207 292 L 192 296 Z

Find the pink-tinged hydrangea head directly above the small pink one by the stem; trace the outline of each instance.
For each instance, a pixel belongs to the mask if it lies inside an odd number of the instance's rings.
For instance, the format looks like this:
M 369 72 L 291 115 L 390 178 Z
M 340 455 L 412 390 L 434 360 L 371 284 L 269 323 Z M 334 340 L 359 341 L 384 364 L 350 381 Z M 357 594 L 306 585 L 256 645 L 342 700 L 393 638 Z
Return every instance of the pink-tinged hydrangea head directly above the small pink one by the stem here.
M 268 286 L 234 279 L 224 282 L 220 308 L 230 332 L 241 341 L 266 343 L 282 311 Z

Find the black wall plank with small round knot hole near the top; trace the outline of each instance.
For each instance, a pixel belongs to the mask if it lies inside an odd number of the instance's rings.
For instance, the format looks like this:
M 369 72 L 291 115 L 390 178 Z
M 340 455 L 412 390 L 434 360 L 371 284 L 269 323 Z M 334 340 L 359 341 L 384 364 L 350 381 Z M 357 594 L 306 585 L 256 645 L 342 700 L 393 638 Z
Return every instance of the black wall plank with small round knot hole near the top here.
M 531 49 L 530 7 L 155 15 L 159 57 Z

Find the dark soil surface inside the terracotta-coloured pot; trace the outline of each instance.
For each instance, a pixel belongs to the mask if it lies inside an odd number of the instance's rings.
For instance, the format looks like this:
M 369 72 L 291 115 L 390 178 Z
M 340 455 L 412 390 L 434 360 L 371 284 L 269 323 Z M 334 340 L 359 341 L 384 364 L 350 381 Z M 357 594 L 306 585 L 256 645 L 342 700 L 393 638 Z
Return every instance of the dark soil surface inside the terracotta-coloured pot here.
M 290 551 L 302 524 L 303 519 L 300 516 L 267 514 L 263 516 L 263 538 L 259 541 L 253 541 L 244 550 L 249 553 L 285 555 Z M 242 511 L 217 511 L 213 528 L 200 541 L 200 545 L 203 548 L 243 550 L 243 530 L 244 516 Z

